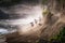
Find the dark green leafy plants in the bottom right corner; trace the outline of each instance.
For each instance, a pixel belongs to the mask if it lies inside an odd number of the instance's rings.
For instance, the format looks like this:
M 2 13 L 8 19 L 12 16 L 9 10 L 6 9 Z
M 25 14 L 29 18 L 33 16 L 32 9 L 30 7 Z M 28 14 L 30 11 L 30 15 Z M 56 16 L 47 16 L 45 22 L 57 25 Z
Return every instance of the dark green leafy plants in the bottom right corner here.
M 63 30 L 60 31 L 60 34 L 52 38 L 51 41 L 58 41 L 58 42 L 64 43 L 65 42 L 65 27 L 63 27 Z

